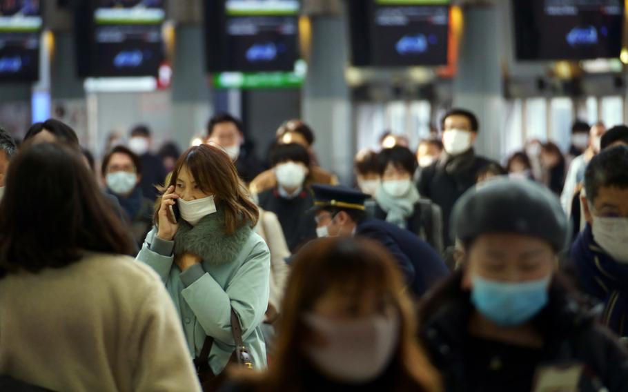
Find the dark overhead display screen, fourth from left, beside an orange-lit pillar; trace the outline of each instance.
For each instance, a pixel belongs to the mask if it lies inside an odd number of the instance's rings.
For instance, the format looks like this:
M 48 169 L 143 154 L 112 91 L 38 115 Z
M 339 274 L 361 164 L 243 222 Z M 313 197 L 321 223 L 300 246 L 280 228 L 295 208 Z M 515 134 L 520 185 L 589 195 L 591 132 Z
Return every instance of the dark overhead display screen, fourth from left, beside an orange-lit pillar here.
M 356 66 L 447 64 L 449 1 L 365 0 L 350 3 Z

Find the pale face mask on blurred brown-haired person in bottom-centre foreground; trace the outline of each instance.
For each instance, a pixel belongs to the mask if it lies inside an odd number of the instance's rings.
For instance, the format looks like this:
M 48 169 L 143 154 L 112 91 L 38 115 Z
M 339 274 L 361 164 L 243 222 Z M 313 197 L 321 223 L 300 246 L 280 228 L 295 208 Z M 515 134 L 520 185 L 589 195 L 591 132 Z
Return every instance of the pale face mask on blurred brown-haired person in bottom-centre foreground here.
M 308 345 L 306 355 L 324 375 L 341 382 L 358 384 L 380 377 L 398 347 L 398 315 L 333 320 L 308 314 L 305 322 L 325 342 Z

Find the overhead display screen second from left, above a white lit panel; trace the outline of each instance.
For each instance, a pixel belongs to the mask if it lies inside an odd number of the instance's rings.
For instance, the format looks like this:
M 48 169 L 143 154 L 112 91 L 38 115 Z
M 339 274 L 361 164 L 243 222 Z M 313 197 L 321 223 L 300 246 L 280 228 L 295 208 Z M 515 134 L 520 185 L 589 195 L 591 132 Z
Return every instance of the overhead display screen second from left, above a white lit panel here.
M 86 12 L 84 76 L 157 76 L 164 61 L 164 0 L 92 0 Z

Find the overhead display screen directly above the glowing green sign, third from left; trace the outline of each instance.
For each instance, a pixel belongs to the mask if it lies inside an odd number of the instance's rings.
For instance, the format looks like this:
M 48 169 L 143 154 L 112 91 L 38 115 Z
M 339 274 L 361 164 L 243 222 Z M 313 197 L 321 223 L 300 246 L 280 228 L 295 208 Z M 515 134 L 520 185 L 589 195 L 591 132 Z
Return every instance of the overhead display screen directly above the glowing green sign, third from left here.
M 295 68 L 298 0 L 209 0 L 206 46 L 210 72 L 273 72 Z

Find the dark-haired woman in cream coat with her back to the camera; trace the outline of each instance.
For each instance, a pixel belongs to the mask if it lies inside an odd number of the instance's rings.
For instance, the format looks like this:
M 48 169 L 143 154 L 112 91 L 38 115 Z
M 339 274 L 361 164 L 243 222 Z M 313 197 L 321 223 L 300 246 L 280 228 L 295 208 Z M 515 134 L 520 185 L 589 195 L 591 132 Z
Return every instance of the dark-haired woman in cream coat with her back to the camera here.
M 132 250 L 77 150 L 19 153 L 0 203 L 0 375 L 53 391 L 198 391 L 175 309 L 121 255 Z

